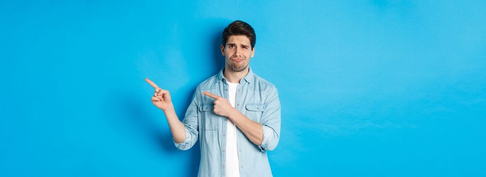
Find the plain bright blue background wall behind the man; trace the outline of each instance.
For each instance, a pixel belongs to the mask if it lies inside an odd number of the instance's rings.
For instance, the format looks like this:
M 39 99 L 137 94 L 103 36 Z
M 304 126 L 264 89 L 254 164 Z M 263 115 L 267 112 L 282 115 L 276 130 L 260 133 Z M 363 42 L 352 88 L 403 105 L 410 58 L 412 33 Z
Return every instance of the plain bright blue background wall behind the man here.
M 275 176 L 485 176 L 484 1 L 0 1 L 0 176 L 195 176 L 182 119 L 234 20 L 282 105 Z

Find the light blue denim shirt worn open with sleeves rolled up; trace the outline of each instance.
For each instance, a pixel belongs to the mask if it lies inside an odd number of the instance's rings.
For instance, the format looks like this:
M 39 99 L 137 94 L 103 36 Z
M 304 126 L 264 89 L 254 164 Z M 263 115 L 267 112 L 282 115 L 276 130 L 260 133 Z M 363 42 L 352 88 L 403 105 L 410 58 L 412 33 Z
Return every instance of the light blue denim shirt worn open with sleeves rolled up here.
M 214 99 L 206 91 L 228 99 L 228 82 L 218 74 L 201 82 L 194 93 L 184 120 L 186 140 L 176 143 L 179 150 L 188 150 L 200 139 L 201 162 L 198 176 L 226 176 L 226 126 L 228 118 L 213 112 Z M 263 141 L 253 144 L 236 128 L 240 176 L 272 176 L 267 150 L 277 147 L 280 138 L 280 101 L 275 85 L 258 77 L 249 68 L 240 80 L 235 108 L 249 119 L 263 125 Z

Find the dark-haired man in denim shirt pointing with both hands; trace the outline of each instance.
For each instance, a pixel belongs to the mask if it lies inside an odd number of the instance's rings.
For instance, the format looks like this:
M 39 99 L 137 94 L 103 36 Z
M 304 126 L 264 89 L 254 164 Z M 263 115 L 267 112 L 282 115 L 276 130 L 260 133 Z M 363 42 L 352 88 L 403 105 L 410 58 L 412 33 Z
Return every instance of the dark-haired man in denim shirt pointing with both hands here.
M 223 31 L 225 67 L 201 82 L 181 122 L 170 94 L 155 89 L 152 103 L 162 109 L 174 145 L 190 149 L 200 138 L 198 176 L 272 176 L 267 150 L 280 138 L 280 101 L 275 85 L 248 66 L 255 54 L 253 28 L 234 21 Z

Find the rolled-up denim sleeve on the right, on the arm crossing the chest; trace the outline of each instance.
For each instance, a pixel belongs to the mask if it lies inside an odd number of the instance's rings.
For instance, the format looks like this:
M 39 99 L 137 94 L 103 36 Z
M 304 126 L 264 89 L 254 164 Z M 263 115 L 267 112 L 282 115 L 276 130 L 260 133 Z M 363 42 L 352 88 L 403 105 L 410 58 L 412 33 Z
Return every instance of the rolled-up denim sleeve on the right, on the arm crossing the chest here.
M 280 100 L 275 86 L 269 89 L 265 109 L 261 115 L 263 126 L 263 141 L 258 146 L 262 152 L 274 150 L 280 138 Z

